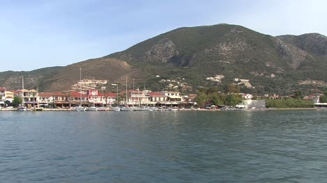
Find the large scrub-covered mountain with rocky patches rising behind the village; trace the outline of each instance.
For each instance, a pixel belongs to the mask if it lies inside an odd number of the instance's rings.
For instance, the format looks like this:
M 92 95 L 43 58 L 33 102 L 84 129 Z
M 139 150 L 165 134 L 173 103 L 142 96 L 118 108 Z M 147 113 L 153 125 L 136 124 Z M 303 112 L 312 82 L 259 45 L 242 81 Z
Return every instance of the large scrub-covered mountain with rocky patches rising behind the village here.
M 79 80 L 80 67 L 82 78 L 107 79 L 108 88 L 110 83 L 124 85 L 128 76 L 138 88 L 152 90 L 188 93 L 237 83 L 243 92 L 259 95 L 297 89 L 311 93 L 327 86 L 327 38 L 318 33 L 273 37 L 230 24 L 183 27 L 66 67 L 0 72 L 0 86 L 20 88 L 24 75 L 27 88 L 67 90 Z

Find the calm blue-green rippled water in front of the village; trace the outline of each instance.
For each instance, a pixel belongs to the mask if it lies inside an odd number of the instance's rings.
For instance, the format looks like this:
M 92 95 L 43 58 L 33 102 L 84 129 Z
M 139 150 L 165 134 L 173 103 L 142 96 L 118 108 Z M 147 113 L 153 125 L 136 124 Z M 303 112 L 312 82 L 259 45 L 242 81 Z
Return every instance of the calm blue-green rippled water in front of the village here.
M 0 135 L 0 182 L 327 180 L 327 111 L 2 111 Z

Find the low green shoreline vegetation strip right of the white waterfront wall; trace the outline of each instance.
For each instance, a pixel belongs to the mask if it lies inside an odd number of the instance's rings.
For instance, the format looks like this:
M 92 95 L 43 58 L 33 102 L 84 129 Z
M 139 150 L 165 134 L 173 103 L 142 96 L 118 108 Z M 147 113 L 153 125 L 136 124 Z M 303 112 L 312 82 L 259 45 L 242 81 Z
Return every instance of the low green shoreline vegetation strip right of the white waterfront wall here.
M 266 100 L 268 108 L 285 109 L 285 108 L 312 108 L 314 102 L 311 100 L 286 99 L 286 100 Z

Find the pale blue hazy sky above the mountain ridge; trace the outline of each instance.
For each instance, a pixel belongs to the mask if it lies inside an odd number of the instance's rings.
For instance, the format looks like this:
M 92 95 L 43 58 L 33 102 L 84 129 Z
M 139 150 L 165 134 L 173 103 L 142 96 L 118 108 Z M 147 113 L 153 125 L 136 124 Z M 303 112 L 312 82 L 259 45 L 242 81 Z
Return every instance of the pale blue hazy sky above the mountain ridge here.
M 327 35 L 327 1 L 0 0 L 0 71 L 64 66 L 182 26 Z

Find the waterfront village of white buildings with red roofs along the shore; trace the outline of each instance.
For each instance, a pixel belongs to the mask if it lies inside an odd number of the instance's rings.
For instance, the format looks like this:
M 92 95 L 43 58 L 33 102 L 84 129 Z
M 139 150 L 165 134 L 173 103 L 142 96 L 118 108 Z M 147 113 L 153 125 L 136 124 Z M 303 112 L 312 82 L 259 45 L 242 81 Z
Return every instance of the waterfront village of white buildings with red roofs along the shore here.
M 128 108 L 128 111 L 140 109 L 161 109 L 161 110 L 220 110 L 220 109 L 266 109 L 266 100 L 280 100 L 279 95 L 264 95 L 261 100 L 254 100 L 252 94 L 238 93 L 242 98 L 240 104 L 235 106 L 216 106 L 208 101 L 201 106 L 198 105 L 196 94 L 181 95 L 178 91 L 160 91 L 152 92 L 151 90 L 122 90 L 117 93 L 105 93 L 101 89 L 96 89 L 99 84 L 107 83 L 106 80 L 80 80 L 72 86 L 72 90 L 65 92 L 43 93 L 38 90 L 10 90 L 8 88 L 0 88 L 0 110 L 17 110 L 24 109 L 45 109 L 45 110 L 75 110 L 82 107 L 83 110 L 103 109 L 110 111 L 114 108 Z M 307 95 L 303 100 L 313 101 L 315 106 L 324 107 L 326 103 L 319 103 L 319 97 L 323 94 Z M 19 104 L 14 104 L 15 97 L 20 98 Z

